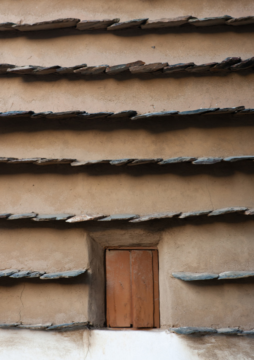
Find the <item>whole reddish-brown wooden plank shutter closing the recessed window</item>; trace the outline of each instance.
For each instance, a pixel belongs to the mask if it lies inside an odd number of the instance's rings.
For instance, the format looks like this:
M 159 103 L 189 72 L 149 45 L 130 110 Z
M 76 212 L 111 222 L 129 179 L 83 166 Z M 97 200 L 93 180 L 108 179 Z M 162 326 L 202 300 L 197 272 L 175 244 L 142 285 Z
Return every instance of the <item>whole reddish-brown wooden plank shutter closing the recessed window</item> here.
M 106 250 L 108 327 L 159 327 L 157 250 Z

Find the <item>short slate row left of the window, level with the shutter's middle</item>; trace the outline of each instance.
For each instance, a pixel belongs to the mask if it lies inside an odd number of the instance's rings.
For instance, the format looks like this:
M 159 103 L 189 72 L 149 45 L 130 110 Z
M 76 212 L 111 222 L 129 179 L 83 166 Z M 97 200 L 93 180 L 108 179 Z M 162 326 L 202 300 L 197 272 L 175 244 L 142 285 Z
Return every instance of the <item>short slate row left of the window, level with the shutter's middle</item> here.
M 11 278 L 21 278 L 21 277 L 39 277 L 40 279 L 60 279 L 60 278 L 70 278 L 83 274 L 86 271 L 84 270 L 68 270 L 68 271 L 59 271 L 53 273 L 46 273 L 45 271 L 32 271 L 32 270 L 16 270 L 16 269 L 6 269 L 0 270 L 0 277 L 11 277 Z

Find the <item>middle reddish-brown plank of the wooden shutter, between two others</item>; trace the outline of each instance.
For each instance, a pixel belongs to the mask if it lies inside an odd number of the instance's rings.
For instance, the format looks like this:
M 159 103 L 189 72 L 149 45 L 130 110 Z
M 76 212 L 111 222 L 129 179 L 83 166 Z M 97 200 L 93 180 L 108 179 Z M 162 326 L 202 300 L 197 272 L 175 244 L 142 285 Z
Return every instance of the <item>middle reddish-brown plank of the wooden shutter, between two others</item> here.
M 153 327 L 151 250 L 131 251 L 133 327 Z

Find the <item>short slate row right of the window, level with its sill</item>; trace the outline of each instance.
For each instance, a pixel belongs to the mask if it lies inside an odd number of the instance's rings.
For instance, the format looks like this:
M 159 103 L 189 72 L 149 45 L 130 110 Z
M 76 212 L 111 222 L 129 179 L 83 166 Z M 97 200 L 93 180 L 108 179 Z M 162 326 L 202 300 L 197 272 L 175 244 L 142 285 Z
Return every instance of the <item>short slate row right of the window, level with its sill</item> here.
M 181 335 L 190 334 L 237 334 L 237 335 L 254 335 L 254 329 L 241 330 L 238 327 L 224 327 L 215 329 L 214 327 L 195 327 L 195 326 L 182 326 L 182 327 L 170 327 L 170 332 L 175 332 Z

